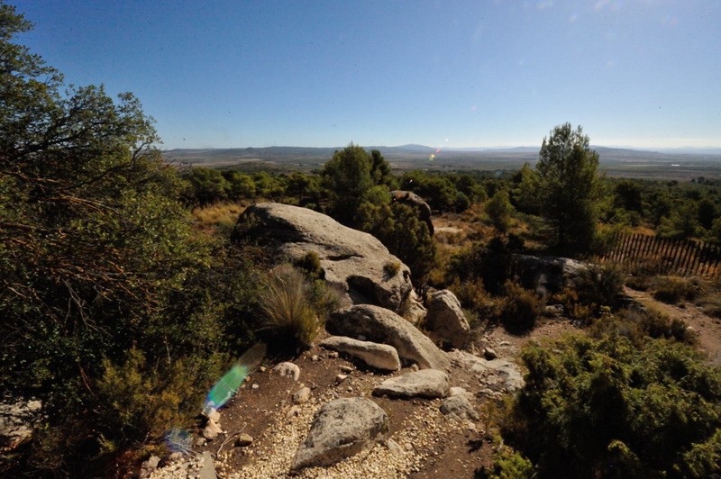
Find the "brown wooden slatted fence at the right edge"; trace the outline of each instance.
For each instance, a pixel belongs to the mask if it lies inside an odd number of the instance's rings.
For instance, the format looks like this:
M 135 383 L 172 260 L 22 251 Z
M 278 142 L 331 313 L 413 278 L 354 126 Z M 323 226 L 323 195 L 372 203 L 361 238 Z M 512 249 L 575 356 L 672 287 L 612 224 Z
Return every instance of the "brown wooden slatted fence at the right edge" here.
M 646 263 L 660 275 L 707 276 L 721 273 L 721 245 L 693 239 L 663 239 L 643 234 L 619 234 L 614 247 L 600 258 L 623 265 Z

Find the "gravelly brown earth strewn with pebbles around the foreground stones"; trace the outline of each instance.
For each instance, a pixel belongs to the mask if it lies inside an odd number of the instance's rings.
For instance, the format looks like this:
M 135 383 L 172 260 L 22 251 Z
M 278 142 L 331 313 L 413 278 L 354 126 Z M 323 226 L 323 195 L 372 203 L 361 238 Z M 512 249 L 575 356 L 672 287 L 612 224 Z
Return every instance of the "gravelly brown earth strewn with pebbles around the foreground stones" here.
M 533 338 L 559 337 L 574 329 L 569 321 L 543 321 Z M 498 328 L 479 333 L 471 350 L 480 357 L 484 349 L 490 348 L 499 358 L 514 360 L 531 338 L 513 336 Z M 315 347 L 293 358 L 300 370 L 294 381 L 290 376 L 273 372 L 273 366 L 281 359 L 266 358 L 233 400 L 220 410 L 222 434 L 207 441 L 199 429 L 193 431 L 191 453 L 176 460 L 166 459 L 149 475 L 203 477 L 202 455 L 210 453 L 217 477 L 287 477 L 315 411 L 342 397 L 365 397 L 378 404 L 388 414 L 388 434 L 356 456 L 329 467 L 306 468 L 298 477 L 431 478 L 440 474 L 473 477 L 479 467 L 491 464 L 496 445 L 488 434 L 486 409 L 489 404 L 502 401 L 505 395 L 492 375 L 479 377 L 469 365 L 453 360 L 450 385 L 469 393 L 472 408 L 478 414 L 476 419 L 461 419 L 444 415 L 441 411 L 444 400 L 440 398 L 392 399 L 373 395 L 373 389 L 382 381 L 411 372 L 414 367 L 382 374 L 351 357 Z M 304 387 L 309 388 L 310 396 L 306 402 L 297 403 L 294 393 Z M 238 446 L 237 438 L 241 435 L 252 438 L 251 444 Z M 206 467 L 206 474 L 208 470 Z

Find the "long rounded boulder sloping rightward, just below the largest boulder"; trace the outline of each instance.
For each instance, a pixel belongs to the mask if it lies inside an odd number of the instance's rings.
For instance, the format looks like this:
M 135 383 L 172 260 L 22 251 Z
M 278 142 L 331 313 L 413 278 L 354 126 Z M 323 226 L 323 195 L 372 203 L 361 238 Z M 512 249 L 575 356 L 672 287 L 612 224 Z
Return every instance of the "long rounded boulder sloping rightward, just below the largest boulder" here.
M 434 342 L 395 312 L 371 304 L 356 304 L 333 312 L 325 321 L 331 334 L 388 344 L 398 356 L 422 369 L 447 369 L 451 363 Z

